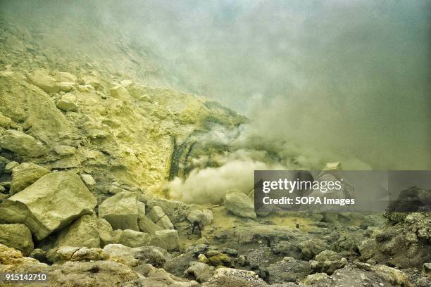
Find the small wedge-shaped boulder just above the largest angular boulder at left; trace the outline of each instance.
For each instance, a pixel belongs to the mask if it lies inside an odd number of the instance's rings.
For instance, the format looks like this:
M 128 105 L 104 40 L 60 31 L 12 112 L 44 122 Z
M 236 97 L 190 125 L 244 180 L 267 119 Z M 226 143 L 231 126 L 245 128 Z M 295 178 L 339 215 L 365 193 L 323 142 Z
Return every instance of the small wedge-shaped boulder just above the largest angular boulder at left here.
M 18 193 L 30 186 L 37 179 L 49 174 L 49 170 L 32 162 L 23 162 L 12 170 L 11 195 Z

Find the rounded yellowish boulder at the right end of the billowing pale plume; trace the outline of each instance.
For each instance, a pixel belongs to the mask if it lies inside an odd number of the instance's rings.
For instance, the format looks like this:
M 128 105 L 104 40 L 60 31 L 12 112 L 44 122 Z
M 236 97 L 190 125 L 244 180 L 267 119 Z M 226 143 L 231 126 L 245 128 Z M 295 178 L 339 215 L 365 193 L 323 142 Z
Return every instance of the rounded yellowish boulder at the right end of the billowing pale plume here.
M 251 219 L 256 218 L 253 201 L 241 191 L 228 191 L 225 196 L 225 207 L 234 215 Z

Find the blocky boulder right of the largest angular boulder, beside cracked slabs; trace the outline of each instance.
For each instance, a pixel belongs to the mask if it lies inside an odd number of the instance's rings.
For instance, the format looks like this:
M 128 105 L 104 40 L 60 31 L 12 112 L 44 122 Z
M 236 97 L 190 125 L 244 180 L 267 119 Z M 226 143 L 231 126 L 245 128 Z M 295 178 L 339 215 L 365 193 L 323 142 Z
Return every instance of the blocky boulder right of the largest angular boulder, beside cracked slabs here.
M 99 206 L 99 217 L 106 219 L 113 229 L 139 231 L 138 208 L 135 193 L 123 192 L 107 198 Z

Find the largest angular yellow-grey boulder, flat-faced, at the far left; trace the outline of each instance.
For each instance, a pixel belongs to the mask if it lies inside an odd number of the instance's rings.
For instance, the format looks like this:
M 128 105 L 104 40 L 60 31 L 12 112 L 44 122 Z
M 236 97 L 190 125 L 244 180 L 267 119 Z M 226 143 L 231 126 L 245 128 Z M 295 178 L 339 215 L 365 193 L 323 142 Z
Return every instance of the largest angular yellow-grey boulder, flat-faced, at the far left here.
M 82 215 L 92 214 L 96 198 L 74 172 L 52 172 L 0 205 L 0 222 L 25 224 L 37 240 Z

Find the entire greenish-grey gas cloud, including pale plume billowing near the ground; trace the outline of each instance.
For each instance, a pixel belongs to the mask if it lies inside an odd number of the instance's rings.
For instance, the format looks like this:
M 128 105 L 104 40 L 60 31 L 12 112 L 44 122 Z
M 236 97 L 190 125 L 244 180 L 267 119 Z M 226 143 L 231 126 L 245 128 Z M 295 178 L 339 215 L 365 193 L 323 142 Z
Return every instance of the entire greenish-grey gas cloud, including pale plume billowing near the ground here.
M 4 14 L 51 21 L 56 29 L 41 32 L 57 37 L 73 39 L 83 23 L 131 39 L 164 84 L 249 118 L 201 139 L 223 139 L 232 153 L 172 181 L 174 198 L 248 192 L 255 169 L 431 168 L 430 1 L 6 2 Z

